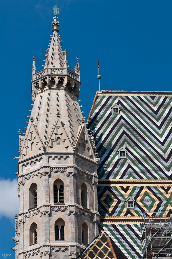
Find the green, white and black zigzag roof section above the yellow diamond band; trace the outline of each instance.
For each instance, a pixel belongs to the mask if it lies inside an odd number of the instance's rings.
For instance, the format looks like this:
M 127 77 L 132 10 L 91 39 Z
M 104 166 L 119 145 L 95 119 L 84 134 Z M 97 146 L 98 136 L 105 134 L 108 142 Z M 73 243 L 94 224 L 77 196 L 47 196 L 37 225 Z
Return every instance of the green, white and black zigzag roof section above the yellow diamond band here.
M 112 115 L 111 106 L 120 106 Z M 100 179 L 172 179 L 172 96 L 98 95 L 88 127 L 95 130 Z M 127 149 L 127 160 L 117 150 Z M 121 169 L 123 167 L 123 171 Z M 120 172 L 119 172 L 120 171 Z M 128 170 L 127 170 L 128 171 Z

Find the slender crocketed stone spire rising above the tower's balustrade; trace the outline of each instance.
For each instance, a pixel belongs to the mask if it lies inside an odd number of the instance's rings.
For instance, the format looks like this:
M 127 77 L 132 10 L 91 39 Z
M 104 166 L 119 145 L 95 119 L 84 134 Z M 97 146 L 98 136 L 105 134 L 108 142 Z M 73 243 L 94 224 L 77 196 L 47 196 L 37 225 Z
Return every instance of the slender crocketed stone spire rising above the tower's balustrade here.
M 52 35 L 50 35 L 50 43 L 48 45 L 49 49 L 47 49 L 46 60 L 45 60 L 45 67 L 64 67 L 64 56 L 62 52 L 62 46 L 61 46 L 61 35 L 58 35 L 58 28 L 59 27 L 59 21 L 57 21 L 58 17 L 57 14 L 54 14 L 52 21 Z

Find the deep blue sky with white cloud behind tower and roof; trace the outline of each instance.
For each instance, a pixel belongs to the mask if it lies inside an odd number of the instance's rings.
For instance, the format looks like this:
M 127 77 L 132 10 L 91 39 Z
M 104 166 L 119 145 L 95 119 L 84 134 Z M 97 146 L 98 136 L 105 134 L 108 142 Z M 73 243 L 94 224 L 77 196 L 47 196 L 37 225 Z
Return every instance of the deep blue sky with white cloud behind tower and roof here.
M 98 90 L 172 91 L 172 1 L 29 0 L 3 1 L 1 24 L 2 254 L 14 258 L 14 214 L 18 212 L 18 130 L 24 129 L 31 101 L 32 57 L 45 58 L 53 6 L 59 7 L 59 34 L 69 64 L 79 56 L 80 104 L 88 117 Z M 42 63 L 42 61 L 39 61 Z M 37 68 L 41 64 L 37 62 Z M 43 63 L 42 63 L 43 64 Z M 70 68 L 73 69 L 75 63 Z M 15 198 L 16 197 L 16 198 Z M 2 257 L 3 258 L 3 257 Z

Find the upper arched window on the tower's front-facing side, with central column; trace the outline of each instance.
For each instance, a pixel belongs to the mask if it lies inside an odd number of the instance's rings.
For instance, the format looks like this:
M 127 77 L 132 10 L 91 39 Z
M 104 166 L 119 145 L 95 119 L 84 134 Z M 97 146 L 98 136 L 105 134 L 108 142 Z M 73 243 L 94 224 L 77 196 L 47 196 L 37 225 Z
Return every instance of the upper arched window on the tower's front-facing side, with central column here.
M 54 203 L 64 203 L 64 184 L 58 179 L 53 184 Z

